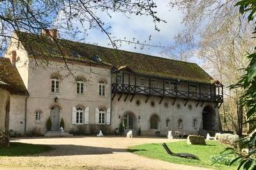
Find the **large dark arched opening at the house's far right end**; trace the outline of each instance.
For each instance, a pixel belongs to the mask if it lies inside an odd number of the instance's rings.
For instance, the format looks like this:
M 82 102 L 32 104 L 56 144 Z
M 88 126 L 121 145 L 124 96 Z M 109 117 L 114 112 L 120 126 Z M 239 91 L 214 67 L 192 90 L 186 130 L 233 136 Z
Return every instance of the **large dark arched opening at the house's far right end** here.
M 212 106 L 206 106 L 202 112 L 203 120 L 203 129 L 204 130 L 213 130 L 214 125 L 216 124 L 216 114 Z

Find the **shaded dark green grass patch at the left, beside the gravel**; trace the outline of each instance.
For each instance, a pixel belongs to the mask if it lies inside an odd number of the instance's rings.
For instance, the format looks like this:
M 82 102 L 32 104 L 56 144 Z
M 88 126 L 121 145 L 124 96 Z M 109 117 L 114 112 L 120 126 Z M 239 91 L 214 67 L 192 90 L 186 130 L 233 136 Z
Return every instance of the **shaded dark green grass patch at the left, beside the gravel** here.
M 0 146 L 0 157 L 1 156 L 34 155 L 34 154 L 50 151 L 51 149 L 52 148 L 47 145 L 11 142 L 9 147 Z

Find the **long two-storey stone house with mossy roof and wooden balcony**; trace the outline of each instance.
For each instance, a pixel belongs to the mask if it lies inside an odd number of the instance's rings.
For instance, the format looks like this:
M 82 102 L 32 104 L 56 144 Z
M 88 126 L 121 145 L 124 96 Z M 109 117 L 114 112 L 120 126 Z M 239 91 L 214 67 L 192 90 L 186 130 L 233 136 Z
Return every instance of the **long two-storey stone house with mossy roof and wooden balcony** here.
M 82 124 L 114 130 L 120 122 L 126 131 L 141 128 L 142 135 L 219 130 L 223 86 L 194 63 L 53 40 L 45 32 L 13 36 L 5 57 L 20 72 L 29 97 L 10 129 L 45 133 L 50 117 L 52 130 L 59 130 L 61 118 L 66 131 Z

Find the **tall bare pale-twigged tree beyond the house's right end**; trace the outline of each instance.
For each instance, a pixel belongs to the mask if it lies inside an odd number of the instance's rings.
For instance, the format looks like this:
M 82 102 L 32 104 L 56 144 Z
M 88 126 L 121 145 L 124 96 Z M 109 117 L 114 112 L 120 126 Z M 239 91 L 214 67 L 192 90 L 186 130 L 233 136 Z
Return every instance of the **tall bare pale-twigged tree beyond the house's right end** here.
M 253 26 L 239 15 L 239 8 L 234 8 L 237 1 L 171 0 L 170 4 L 184 10 L 184 36 L 194 37 L 196 56 L 202 60 L 204 69 L 225 86 L 224 104 L 220 108 L 222 121 L 227 123 L 224 129 L 241 135 L 240 119 L 246 119 L 241 112 L 246 108 L 238 109 L 241 105 L 237 103 L 243 89 L 230 90 L 229 85 L 244 74 L 246 55 L 253 51 L 250 44 L 255 40 L 250 36 Z

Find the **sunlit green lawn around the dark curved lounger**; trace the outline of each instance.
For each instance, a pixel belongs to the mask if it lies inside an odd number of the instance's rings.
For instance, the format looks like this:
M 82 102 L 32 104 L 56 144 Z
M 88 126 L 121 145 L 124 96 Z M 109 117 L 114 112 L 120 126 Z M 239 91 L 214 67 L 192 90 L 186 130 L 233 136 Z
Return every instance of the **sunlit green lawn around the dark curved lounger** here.
M 210 167 L 213 169 L 236 169 L 236 167 L 228 167 L 223 164 L 211 165 L 210 157 L 212 155 L 219 155 L 219 153 L 225 149 L 224 145 L 219 144 L 216 141 L 207 141 L 205 146 L 189 145 L 186 144 L 186 141 L 167 143 L 167 146 L 174 153 L 192 153 L 197 155 L 200 160 L 191 160 L 170 156 L 166 153 L 162 144 L 142 144 L 132 146 L 128 151 L 137 155 L 145 156 L 147 158 L 164 160 L 176 164 L 187 164 L 197 167 Z

